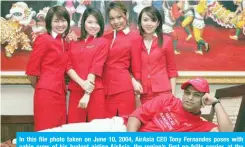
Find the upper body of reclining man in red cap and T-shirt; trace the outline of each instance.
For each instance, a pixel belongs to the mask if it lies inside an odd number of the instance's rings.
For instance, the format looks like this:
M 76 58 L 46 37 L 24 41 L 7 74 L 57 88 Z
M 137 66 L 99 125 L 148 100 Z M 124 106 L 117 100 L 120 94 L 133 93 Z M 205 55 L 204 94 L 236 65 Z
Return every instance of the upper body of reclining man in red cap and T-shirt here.
M 232 131 L 232 123 L 220 101 L 209 94 L 203 78 L 185 82 L 182 101 L 173 95 L 153 99 L 135 110 L 128 118 L 127 131 L 142 132 L 209 132 Z M 201 108 L 212 105 L 218 125 L 201 118 Z

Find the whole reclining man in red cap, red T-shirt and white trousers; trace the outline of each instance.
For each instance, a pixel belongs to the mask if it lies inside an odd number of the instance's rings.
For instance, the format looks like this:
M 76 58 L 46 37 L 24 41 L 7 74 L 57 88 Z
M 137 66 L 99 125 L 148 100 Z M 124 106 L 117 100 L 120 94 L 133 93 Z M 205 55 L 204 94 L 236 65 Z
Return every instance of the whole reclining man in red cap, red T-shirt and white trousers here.
M 44 132 L 209 132 L 232 131 L 232 123 L 218 99 L 209 93 L 203 78 L 185 82 L 182 101 L 166 93 L 136 109 L 127 117 L 95 119 L 90 123 L 66 124 Z M 212 105 L 218 125 L 201 118 L 201 107 Z

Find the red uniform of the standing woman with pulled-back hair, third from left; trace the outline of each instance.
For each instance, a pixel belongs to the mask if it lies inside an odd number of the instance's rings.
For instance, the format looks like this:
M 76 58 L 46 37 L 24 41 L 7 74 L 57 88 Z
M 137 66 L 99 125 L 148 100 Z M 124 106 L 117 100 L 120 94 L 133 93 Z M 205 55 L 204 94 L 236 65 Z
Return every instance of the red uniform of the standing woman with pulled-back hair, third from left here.
M 107 117 L 129 115 L 135 110 L 130 73 L 135 79 L 140 79 L 140 44 L 136 41 L 140 36 L 127 28 L 105 37 L 111 44 L 103 73 Z

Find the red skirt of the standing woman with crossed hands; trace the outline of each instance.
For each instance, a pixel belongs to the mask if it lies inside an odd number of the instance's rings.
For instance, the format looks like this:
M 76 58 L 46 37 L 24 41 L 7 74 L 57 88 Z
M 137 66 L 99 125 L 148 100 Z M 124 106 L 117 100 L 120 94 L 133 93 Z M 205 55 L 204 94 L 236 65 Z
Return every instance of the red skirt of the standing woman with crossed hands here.
M 103 89 L 94 90 L 86 109 L 78 108 L 78 102 L 84 92 L 71 91 L 69 99 L 68 123 L 91 121 L 105 118 L 105 95 Z M 88 120 L 86 120 L 86 118 Z

